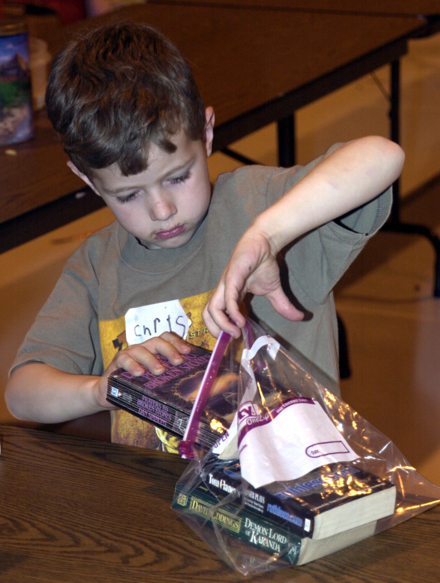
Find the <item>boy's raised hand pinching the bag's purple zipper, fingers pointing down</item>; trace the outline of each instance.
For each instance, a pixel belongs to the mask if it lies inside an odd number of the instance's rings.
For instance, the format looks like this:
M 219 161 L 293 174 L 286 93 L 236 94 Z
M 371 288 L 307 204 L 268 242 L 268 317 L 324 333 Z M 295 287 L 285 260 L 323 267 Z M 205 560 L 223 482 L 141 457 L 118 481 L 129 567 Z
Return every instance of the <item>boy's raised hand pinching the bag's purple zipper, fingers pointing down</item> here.
M 246 324 L 239 303 L 247 292 L 267 297 L 283 318 L 299 321 L 304 317 L 282 290 L 278 263 L 269 241 L 252 229 L 238 241 L 213 296 L 204 307 L 203 319 L 213 336 L 217 337 L 223 330 L 239 338 L 240 329 Z

